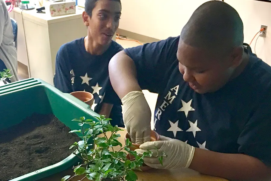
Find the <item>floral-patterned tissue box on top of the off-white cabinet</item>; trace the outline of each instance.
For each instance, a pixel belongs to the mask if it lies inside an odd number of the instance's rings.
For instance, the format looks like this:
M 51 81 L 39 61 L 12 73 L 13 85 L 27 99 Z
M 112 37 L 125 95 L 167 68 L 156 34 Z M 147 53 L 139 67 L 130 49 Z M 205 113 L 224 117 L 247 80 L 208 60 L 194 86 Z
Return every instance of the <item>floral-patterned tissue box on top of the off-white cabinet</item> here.
M 76 13 L 75 1 L 50 1 L 46 4 L 45 12 L 46 14 L 50 14 L 51 17 Z

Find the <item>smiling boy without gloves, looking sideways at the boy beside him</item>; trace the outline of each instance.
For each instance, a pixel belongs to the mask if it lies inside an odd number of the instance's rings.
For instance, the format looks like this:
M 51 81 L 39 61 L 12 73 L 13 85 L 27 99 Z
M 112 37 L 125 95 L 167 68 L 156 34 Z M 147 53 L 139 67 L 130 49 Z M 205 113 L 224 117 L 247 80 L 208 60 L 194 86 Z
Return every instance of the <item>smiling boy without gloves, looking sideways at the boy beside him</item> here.
M 92 109 L 124 126 L 120 99 L 108 75 L 110 59 L 123 50 L 112 37 L 119 27 L 120 0 L 86 0 L 83 22 L 88 36 L 61 46 L 56 56 L 54 85 L 64 93 L 88 91 L 94 96 Z

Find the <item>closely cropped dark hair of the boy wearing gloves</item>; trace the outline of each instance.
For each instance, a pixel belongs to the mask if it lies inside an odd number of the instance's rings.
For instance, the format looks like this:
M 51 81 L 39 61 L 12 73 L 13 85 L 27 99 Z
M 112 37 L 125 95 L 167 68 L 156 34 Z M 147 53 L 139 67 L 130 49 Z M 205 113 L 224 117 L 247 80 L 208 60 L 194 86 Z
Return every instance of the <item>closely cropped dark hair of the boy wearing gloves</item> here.
M 232 6 L 212 0 L 194 11 L 183 27 L 180 39 L 193 47 L 231 49 L 243 45 L 244 25 Z

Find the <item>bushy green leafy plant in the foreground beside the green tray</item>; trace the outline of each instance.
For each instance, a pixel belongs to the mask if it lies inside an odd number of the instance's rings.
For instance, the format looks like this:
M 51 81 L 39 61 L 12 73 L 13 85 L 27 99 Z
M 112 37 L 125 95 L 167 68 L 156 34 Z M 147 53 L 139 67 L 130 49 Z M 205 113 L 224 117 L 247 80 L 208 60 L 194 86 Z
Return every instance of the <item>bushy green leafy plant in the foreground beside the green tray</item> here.
M 125 145 L 122 145 L 117 138 L 120 138 L 118 131 L 122 129 L 117 126 L 113 127 L 109 120 L 104 116 L 97 117 L 98 122 L 85 117 L 80 119 L 73 119 L 73 121 L 79 122 L 81 126 L 79 130 L 72 130 L 72 132 L 79 132 L 82 134 L 82 141 L 75 142 L 70 146 L 76 148 L 73 152 L 83 160 L 78 166 L 73 168 L 74 176 L 85 175 L 83 179 L 87 178 L 93 181 L 136 181 L 138 179 L 134 170 L 140 170 L 142 167 L 143 158 L 150 157 L 151 151 L 139 154 L 136 151 L 131 150 L 132 142 L 129 138 L 126 139 Z M 110 136 L 106 134 L 111 132 Z M 98 135 L 103 134 L 103 137 Z M 90 149 L 91 147 L 91 149 Z M 114 148 L 120 147 L 119 151 L 114 151 Z M 129 160 L 127 154 L 130 154 L 134 159 Z M 157 155 L 162 164 L 164 153 Z M 157 158 L 157 159 L 158 159 Z M 74 176 L 67 175 L 61 179 L 61 181 L 69 181 Z M 83 180 L 81 179 L 81 180 Z

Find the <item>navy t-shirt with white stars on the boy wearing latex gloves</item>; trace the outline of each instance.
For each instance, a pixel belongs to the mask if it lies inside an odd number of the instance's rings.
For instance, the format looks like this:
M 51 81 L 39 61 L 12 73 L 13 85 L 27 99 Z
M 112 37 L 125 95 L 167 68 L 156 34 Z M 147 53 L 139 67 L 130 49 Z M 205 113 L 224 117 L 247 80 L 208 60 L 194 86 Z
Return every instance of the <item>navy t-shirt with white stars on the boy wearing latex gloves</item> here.
M 179 37 L 125 49 L 142 89 L 158 93 L 155 130 L 192 146 L 241 153 L 271 166 L 271 67 L 250 54 L 245 70 L 214 93 L 198 94 L 183 80 Z

